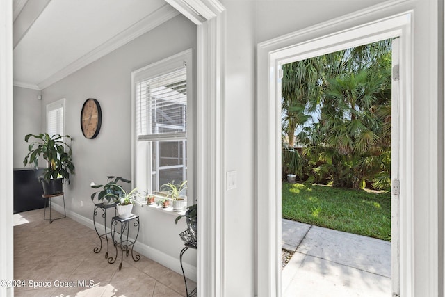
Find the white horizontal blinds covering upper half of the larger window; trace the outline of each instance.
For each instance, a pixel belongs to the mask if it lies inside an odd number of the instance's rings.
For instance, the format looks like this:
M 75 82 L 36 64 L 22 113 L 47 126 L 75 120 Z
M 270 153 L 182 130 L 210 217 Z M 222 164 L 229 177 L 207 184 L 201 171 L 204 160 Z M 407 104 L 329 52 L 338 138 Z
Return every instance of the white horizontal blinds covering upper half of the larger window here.
M 136 83 L 138 141 L 186 136 L 186 67 Z

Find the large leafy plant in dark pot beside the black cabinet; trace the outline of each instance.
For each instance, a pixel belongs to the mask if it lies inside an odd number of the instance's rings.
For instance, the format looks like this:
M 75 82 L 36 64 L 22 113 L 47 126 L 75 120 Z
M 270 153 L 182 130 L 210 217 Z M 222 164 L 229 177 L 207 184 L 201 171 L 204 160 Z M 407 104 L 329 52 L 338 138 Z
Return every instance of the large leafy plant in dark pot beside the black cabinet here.
M 74 164 L 72 163 L 72 150 L 67 140 L 72 142 L 69 135 L 61 136 L 55 134 L 28 134 L 25 141 L 29 138 L 35 138 L 35 141 L 29 144 L 28 154 L 25 156 L 23 165 L 33 164 L 38 167 L 38 159 L 40 156 L 47 161 L 44 168 L 44 174 L 41 178 L 43 185 L 43 193 L 45 195 L 57 194 L 63 192 L 63 182 L 70 184 L 70 174 L 74 174 Z

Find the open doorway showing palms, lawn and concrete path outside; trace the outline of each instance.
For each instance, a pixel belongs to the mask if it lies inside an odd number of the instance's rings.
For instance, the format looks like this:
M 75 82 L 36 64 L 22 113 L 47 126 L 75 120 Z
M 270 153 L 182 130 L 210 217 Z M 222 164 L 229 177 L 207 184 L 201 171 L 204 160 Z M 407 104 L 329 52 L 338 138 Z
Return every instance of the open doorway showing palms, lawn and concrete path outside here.
M 398 39 L 281 65 L 282 296 L 400 294 L 398 65 Z

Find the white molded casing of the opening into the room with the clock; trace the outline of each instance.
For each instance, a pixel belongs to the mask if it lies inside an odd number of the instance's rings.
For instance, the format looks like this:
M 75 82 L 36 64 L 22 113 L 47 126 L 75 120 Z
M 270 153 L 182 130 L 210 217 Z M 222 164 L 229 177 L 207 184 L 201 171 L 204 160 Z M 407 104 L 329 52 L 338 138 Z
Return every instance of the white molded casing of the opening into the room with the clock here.
M 165 0 L 197 25 L 197 296 L 224 296 L 225 7 Z

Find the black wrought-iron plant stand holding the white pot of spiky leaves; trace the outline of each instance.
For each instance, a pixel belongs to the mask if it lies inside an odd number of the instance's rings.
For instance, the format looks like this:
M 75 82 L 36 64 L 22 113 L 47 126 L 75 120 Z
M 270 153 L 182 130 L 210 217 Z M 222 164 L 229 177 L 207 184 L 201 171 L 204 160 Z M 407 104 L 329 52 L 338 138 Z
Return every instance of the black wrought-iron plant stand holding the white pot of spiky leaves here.
M 118 223 L 120 223 L 120 232 L 116 232 L 116 225 L 118 225 Z M 129 240 L 130 225 L 133 225 L 133 227 L 138 228 L 134 241 Z M 133 261 L 139 261 L 140 255 L 133 256 L 134 243 L 136 242 L 136 239 L 138 239 L 138 234 L 139 234 L 139 216 L 135 214 L 129 216 L 128 218 L 120 218 L 118 216 L 115 216 L 111 218 L 110 229 L 111 229 L 111 238 L 113 239 L 113 243 L 116 250 L 116 256 L 114 258 L 108 257 L 108 263 L 113 264 L 116 261 L 116 258 L 118 257 L 118 247 L 120 248 L 119 270 L 122 268 L 124 252 L 128 257 L 130 247 L 131 247 L 131 258 L 133 258 Z M 119 240 L 117 239 L 117 236 L 119 236 Z

